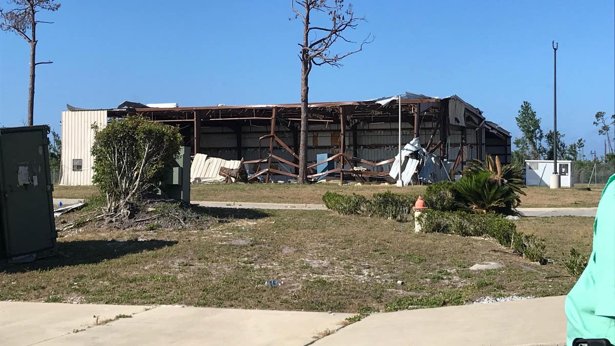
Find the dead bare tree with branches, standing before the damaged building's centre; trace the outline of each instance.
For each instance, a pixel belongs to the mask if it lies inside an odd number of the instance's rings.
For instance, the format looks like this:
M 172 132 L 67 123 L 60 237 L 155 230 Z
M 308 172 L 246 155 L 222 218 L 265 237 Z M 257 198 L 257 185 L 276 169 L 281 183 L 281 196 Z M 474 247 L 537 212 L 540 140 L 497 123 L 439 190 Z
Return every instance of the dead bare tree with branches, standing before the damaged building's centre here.
M 295 4 L 301 9 L 295 9 Z M 336 54 L 331 52 L 331 47 L 338 42 L 356 44 L 344 36 L 347 29 L 355 29 L 365 17 L 355 17 L 352 4 L 344 6 L 344 0 L 291 0 L 290 8 L 295 12 L 295 18 L 303 21 L 303 42 L 299 58 L 301 60 L 301 134 L 299 140 L 299 177 L 298 183 L 306 183 L 307 175 L 307 143 L 308 143 L 308 77 L 312 66 L 331 65 L 341 66 L 341 60 L 348 55 L 363 50 L 365 44 L 373 41 L 371 34 L 359 44 L 357 49 Z M 329 25 L 312 26 L 310 15 L 312 11 L 322 12 L 328 15 Z

